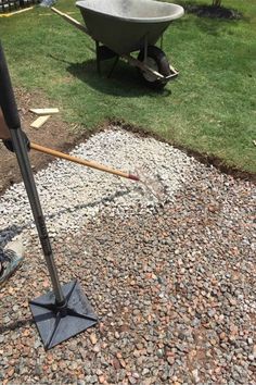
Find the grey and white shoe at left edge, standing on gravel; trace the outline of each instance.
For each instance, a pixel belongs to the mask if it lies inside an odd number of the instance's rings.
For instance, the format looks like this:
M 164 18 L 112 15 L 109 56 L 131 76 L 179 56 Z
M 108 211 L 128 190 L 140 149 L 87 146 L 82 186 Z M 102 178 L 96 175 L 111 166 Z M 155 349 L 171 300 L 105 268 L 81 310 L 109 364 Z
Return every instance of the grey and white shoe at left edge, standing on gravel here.
M 1 250 L 0 287 L 10 278 L 24 260 L 24 247 L 21 237 L 8 244 L 7 249 Z

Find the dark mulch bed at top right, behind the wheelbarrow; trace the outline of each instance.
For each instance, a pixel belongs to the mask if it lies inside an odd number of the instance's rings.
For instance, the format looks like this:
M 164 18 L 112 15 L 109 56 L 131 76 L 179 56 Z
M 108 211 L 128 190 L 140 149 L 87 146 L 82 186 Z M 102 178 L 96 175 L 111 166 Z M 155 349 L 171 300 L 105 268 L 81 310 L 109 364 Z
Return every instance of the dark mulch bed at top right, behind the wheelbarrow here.
M 213 7 L 204 4 L 193 4 L 188 3 L 184 9 L 189 13 L 194 13 L 200 17 L 210 17 L 210 18 L 225 18 L 225 20 L 240 20 L 242 18 L 242 13 L 225 7 Z

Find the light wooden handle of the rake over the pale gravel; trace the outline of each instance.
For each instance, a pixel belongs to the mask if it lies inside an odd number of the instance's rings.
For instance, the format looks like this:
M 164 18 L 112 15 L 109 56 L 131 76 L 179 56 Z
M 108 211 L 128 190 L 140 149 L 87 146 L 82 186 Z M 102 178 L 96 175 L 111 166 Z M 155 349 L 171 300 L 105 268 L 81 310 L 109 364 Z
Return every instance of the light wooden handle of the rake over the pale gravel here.
M 106 165 L 97 163 L 94 161 L 88 161 L 88 160 L 84 160 L 84 159 L 80 159 L 80 158 L 72 157 L 72 156 L 68 156 L 67 153 L 63 153 L 63 152 L 60 152 L 60 151 L 56 151 L 56 150 L 52 150 L 50 148 L 34 144 L 34 142 L 30 142 L 30 148 L 33 150 L 36 150 L 36 151 L 39 151 L 39 152 L 48 153 L 49 156 L 52 156 L 52 157 L 55 157 L 55 158 L 65 159 L 65 160 L 67 160 L 69 162 L 75 162 L 75 163 L 78 163 L 78 164 L 81 164 L 81 165 L 86 165 L 87 167 L 97 169 L 97 170 L 103 171 L 105 173 L 110 173 L 110 174 L 114 174 L 114 175 L 117 175 L 117 176 L 126 177 L 128 179 L 132 179 L 132 181 L 137 181 L 137 182 L 140 181 L 140 178 L 137 175 L 125 173 L 125 172 L 119 171 L 119 170 L 110 169 Z

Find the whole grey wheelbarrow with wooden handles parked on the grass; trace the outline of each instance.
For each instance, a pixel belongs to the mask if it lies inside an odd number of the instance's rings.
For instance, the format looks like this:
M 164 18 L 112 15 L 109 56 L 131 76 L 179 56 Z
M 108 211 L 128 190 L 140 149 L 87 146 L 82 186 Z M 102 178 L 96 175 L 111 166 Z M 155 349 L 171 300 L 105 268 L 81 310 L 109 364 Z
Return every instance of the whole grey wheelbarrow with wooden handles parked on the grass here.
M 163 34 L 169 24 L 183 15 L 182 7 L 154 0 L 84 0 L 77 1 L 82 25 L 69 15 L 51 8 L 68 23 L 89 35 L 95 41 L 97 66 L 101 61 L 115 58 L 108 76 L 119 58 L 137 67 L 152 88 L 163 88 L 178 75 L 163 48 Z M 155 44 L 161 39 L 161 48 Z M 139 51 L 137 59 L 131 55 Z

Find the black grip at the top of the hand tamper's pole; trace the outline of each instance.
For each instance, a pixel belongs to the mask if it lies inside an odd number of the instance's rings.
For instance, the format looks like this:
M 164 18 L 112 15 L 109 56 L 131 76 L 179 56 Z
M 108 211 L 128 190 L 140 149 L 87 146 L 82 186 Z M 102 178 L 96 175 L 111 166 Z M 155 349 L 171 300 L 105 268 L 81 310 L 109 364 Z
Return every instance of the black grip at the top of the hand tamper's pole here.
M 0 107 L 5 123 L 11 129 L 21 128 L 17 105 L 13 94 L 12 83 L 5 61 L 3 48 L 0 41 Z

